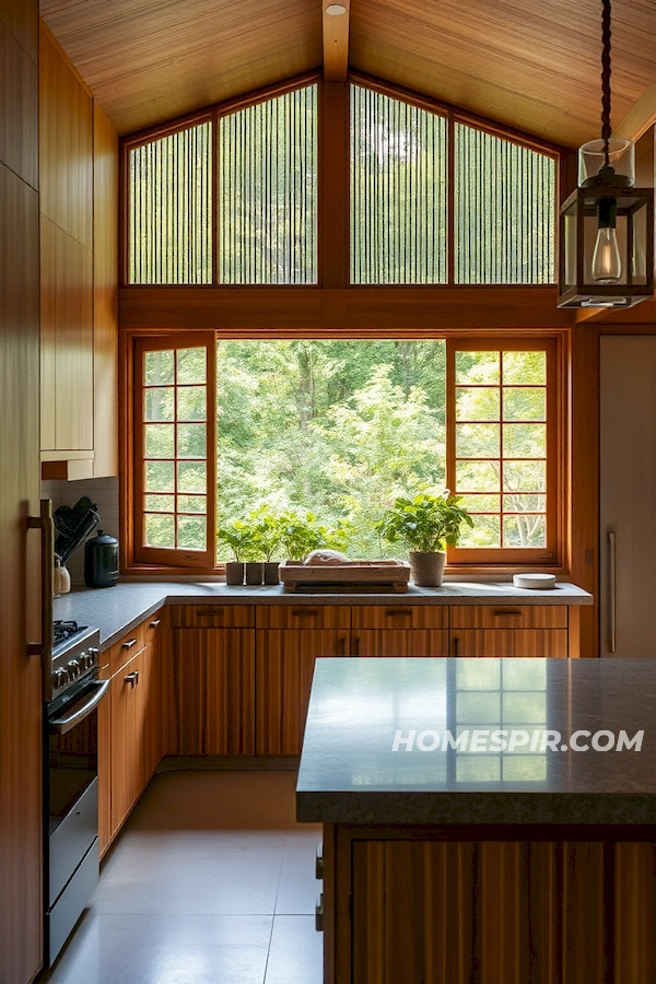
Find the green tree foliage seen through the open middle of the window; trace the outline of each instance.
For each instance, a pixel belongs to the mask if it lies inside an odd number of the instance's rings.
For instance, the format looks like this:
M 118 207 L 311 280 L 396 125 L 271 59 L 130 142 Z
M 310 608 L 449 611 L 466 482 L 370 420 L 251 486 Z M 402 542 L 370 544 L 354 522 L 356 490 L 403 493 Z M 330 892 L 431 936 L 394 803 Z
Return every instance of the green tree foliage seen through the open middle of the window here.
M 443 341 L 220 342 L 219 525 L 311 511 L 351 524 L 351 557 L 388 554 L 383 512 L 444 488 L 445 376 Z

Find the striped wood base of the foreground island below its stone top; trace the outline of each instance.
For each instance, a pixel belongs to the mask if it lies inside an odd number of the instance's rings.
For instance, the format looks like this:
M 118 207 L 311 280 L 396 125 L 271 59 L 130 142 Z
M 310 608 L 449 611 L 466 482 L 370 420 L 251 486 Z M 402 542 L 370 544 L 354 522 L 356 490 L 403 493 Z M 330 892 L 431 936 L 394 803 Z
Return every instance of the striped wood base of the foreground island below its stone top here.
M 325 984 L 656 981 L 654 828 L 324 832 Z

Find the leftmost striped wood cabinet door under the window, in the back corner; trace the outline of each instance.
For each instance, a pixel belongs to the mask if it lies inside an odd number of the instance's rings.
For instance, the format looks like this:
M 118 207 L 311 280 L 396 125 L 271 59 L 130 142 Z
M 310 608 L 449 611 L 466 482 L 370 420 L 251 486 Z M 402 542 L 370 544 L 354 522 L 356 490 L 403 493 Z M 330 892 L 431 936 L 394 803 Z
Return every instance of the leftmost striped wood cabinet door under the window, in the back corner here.
M 174 629 L 180 755 L 255 754 L 255 632 Z

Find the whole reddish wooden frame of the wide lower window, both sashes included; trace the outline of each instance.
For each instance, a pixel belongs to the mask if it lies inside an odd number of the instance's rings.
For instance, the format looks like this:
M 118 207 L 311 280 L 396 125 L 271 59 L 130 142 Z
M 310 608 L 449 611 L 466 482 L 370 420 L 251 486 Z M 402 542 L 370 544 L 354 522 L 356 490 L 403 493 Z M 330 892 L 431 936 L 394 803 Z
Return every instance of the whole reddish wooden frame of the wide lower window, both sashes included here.
M 225 565 L 215 562 L 215 516 L 216 516 L 216 456 L 215 453 L 208 458 L 208 550 L 202 561 L 184 561 L 181 551 L 166 551 L 166 561 L 160 548 L 156 555 L 152 552 L 147 555 L 140 549 L 141 517 L 139 503 L 143 501 L 143 457 L 141 448 L 141 411 L 139 397 L 140 377 L 139 353 L 171 348 L 174 344 L 185 347 L 206 343 L 213 352 L 208 360 L 208 443 L 210 435 L 215 434 L 216 418 L 216 342 L 231 339 L 246 339 L 265 341 L 278 341 L 294 337 L 304 337 L 316 340 L 327 340 L 349 337 L 350 339 L 371 340 L 373 337 L 402 338 L 405 340 L 444 340 L 447 347 L 447 375 L 446 375 L 446 473 L 447 485 L 453 488 L 455 468 L 455 373 L 452 360 L 455 351 L 504 351 L 504 350 L 547 350 L 548 351 L 548 377 L 547 377 L 547 507 L 549 549 L 540 548 L 449 548 L 447 551 L 446 573 L 450 575 L 508 575 L 514 572 L 531 571 L 539 567 L 542 571 L 560 575 L 570 573 L 571 553 L 571 524 L 569 508 L 571 502 L 570 489 L 570 409 L 569 409 L 569 363 L 570 363 L 570 332 L 566 329 L 554 330 L 520 330 L 508 329 L 494 335 L 482 330 L 455 330 L 442 331 L 305 331 L 296 332 L 289 329 L 263 331 L 214 331 L 189 329 L 174 332 L 162 329 L 130 329 L 121 332 L 121 358 L 125 373 L 121 374 L 121 419 L 120 440 L 121 454 L 125 466 L 121 469 L 121 571 L 125 574 L 207 574 L 222 575 Z M 139 384 L 138 382 L 139 380 Z M 213 415 L 213 423 L 210 418 Z M 215 445 L 215 441 L 214 441 Z M 210 446 L 211 449 L 211 446 Z M 542 552 L 543 557 L 539 557 Z M 549 553 L 547 557 L 546 554 Z M 210 562 L 211 558 L 211 562 Z

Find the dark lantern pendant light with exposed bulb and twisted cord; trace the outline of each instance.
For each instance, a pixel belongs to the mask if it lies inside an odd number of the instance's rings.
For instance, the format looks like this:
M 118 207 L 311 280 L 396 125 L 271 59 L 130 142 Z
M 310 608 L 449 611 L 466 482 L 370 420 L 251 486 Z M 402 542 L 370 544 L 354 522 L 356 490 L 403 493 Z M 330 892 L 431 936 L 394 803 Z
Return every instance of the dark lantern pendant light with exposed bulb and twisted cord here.
M 633 307 L 654 293 L 654 191 L 633 187 L 633 141 L 610 136 L 610 0 L 601 9 L 601 138 L 579 149 L 578 188 L 561 206 L 559 307 Z

